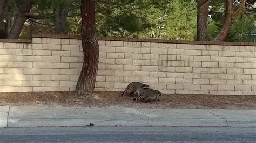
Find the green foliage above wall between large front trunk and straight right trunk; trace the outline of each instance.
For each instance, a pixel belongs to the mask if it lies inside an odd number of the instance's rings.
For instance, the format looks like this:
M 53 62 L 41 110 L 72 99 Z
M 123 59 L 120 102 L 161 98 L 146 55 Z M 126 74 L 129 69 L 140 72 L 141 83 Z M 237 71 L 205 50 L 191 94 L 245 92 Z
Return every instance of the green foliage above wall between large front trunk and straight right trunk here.
M 195 1 L 135 1 L 107 15 L 97 15 L 97 32 L 105 36 L 193 40 L 196 6 Z

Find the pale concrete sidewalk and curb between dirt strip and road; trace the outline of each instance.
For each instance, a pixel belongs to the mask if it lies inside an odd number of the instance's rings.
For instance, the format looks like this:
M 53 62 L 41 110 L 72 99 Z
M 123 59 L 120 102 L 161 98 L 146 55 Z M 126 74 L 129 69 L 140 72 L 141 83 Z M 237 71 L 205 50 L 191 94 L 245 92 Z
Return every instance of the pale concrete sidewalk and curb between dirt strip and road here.
M 256 110 L 0 106 L 0 127 L 59 126 L 256 127 Z

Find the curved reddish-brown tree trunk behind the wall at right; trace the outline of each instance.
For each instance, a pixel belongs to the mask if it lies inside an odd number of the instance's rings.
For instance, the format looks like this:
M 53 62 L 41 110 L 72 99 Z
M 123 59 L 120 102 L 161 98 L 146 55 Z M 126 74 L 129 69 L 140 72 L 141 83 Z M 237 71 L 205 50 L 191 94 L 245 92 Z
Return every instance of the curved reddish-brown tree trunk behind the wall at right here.
M 232 23 L 232 9 L 233 0 L 226 0 L 225 22 L 220 33 L 213 39 L 213 41 L 224 41 L 227 37 Z

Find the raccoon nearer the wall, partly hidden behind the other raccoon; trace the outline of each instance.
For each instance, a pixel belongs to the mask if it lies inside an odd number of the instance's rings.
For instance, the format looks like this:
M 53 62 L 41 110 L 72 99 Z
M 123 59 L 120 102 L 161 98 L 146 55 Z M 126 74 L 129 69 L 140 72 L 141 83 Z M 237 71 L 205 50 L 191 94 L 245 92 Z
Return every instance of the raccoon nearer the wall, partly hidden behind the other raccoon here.
M 138 96 L 141 94 L 142 90 L 144 88 L 148 88 L 149 85 L 147 84 L 143 84 L 143 83 L 140 83 L 140 82 L 132 82 L 130 83 L 126 89 L 122 92 L 121 95 L 125 95 L 126 92 L 130 92 L 130 96 Z

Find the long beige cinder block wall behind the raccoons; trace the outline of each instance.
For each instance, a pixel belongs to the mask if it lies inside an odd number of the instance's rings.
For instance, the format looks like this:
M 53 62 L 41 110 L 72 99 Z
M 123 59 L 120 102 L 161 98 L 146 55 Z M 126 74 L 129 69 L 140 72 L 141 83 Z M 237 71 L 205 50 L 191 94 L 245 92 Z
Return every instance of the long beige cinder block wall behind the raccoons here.
M 183 42 L 99 38 L 95 90 L 138 81 L 169 94 L 256 95 L 255 44 Z M 78 37 L 0 40 L 0 92 L 73 91 L 82 63 Z

